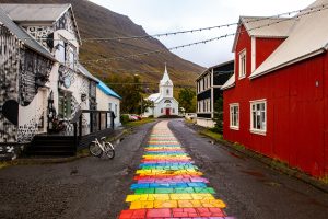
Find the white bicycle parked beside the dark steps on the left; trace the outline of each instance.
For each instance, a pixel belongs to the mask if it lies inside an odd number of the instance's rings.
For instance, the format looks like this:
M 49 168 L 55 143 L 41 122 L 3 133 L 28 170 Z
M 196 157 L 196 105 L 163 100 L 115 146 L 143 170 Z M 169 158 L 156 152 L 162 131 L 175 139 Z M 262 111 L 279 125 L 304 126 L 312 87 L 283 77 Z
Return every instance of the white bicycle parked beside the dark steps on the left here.
M 101 142 L 97 138 L 89 145 L 89 151 L 92 155 L 101 158 L 105 153 L 109 159 L 115 157 L 115 150 L 110 142 L 105 140 L 106 137 L 101 138 Z

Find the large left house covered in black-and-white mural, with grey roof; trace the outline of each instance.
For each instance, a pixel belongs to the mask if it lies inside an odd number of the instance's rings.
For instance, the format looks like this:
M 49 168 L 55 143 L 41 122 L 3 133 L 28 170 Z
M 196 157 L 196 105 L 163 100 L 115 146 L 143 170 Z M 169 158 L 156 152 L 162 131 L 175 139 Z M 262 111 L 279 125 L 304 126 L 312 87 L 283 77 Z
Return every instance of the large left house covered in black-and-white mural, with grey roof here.
M 79 64 L 80 46 L 71 4 L 0 4 L 0 159 L 12 148 L 32 149 L 42 135 L 77 143 L 71 120 L 80 110 L 93 111 L 80 116 L 79 142 L 109 132 L 96 119 L 107 113 L 94 112 L 97 79 Z

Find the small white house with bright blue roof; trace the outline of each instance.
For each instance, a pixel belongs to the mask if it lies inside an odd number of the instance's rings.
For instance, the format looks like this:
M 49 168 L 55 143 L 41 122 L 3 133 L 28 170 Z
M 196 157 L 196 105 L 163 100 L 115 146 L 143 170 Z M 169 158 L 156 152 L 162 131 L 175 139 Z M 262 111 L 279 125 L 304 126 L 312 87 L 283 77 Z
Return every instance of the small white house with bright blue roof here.
M 115 127 L 121 125 L 120 123 L 120 95 L 107 87 L 103 81 L 98 80 L 97 84 L 97 110 L 113 111 L 115 114 Z

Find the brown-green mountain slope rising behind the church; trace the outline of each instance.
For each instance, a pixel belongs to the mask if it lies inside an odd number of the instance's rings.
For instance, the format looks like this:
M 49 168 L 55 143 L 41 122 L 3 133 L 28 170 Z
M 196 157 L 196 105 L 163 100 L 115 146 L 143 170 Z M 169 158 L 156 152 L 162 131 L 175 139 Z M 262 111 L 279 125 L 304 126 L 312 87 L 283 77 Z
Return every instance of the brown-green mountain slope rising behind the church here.
M 128 16 L 115 13 L 87 0 L 0 0 L 0 2 L 71 3 L 82 38 L 147 34 L 142 26 L 134 24 Z M 80 59 L 110 58 L 157 49 L 166 49 L 166 47 L 160 41 L 153 38 L 107 43 L 83 42 Z M 143 82 L 157 82 L 162 77 L 164 62 L 167 62 L 171 78 L 176 85 L 194 85 L 195 79 L 203 70 L 202 67 L 184 60 L 169 51 L 133 60 L 98 62 L 96 66 L 86 66 L 86 68 L 101 78 L 106 78 L 112 73 L 119 73 L 120 76 L 138 73 Z M 127 71 L 113 69 L 127 69 Z

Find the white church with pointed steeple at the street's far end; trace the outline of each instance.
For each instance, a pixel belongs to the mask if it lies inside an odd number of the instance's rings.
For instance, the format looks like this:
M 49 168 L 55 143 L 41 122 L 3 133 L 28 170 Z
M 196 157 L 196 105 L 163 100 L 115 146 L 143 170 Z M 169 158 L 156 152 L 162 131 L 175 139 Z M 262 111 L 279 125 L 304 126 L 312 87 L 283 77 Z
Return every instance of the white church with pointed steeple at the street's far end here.
M 145 108 L 144 116 L 171 116 L 178 115 L 179 103 L 173 97 L 173 82 L 168 77 L 165 65 L 163 79 L 160 81 L 160 93 L 151 94 L 147 101 L 153 102 L 153 107 Z

